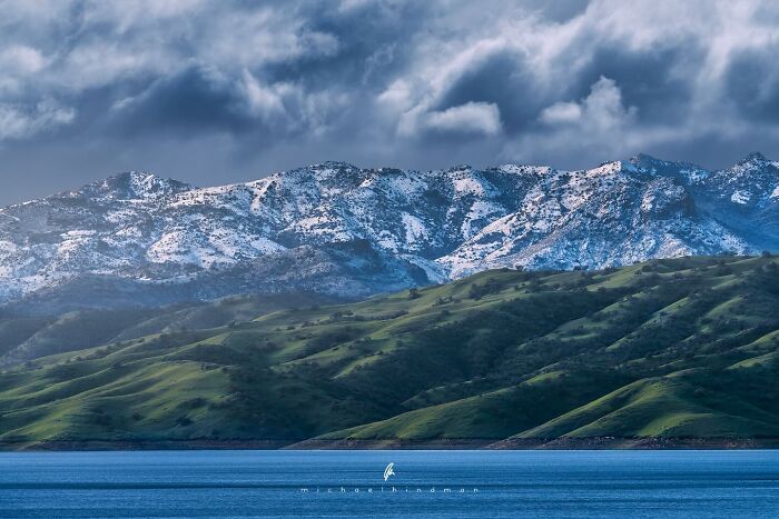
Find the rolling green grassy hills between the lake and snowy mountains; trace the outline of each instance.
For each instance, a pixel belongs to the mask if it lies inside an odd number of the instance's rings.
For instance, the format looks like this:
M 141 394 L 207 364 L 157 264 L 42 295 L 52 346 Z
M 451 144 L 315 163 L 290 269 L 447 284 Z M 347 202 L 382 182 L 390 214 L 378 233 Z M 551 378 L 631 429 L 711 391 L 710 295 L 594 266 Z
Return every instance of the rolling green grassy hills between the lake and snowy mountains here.
M 779 437 L 776 258 L 289 302 L 117 318 L 76 351 L 62 316 L 46 326 L 56 355 L 0 373 L 0 441 Z

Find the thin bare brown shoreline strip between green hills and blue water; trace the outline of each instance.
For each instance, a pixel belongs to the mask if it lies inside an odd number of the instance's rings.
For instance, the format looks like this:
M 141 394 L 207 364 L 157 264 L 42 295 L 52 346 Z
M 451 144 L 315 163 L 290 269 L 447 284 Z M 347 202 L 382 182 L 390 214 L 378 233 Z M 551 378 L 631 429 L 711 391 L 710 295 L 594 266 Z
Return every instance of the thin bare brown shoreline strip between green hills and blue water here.
M 751 450 L 779 438 L 509 438 L 440 440 L 56 440 L 0 441 L 0 452 L 145 450 Z

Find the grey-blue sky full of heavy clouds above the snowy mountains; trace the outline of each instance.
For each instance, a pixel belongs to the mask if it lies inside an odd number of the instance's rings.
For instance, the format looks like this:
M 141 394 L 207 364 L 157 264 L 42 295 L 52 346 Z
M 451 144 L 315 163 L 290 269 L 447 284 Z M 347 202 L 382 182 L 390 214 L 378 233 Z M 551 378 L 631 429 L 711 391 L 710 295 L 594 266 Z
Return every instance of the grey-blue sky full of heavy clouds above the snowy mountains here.
M 779 2 L 0 0 L 0 203 L 154 170 L 779 158 Z

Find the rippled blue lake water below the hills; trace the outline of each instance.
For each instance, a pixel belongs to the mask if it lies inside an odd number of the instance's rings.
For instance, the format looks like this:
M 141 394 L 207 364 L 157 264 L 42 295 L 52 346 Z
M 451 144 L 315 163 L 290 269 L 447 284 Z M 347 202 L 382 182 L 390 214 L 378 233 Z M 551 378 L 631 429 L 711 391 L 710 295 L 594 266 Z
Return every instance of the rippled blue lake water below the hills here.
M 0 517 L 776 518 L 779 451 L 4 452 Z

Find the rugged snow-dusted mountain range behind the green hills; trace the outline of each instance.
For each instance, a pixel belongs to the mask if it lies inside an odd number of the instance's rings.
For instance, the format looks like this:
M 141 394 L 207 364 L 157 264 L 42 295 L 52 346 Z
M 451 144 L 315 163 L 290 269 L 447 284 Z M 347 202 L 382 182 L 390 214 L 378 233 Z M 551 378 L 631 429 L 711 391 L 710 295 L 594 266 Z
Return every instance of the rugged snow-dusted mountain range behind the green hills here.
M 600 268 L 779 249 L 779 162 L 638 156 L 593 169 L 326 162 L 195 188 L 128 172 L 0 210 L 4 311 L 244 292 L 344 298 L 497 267 Z

